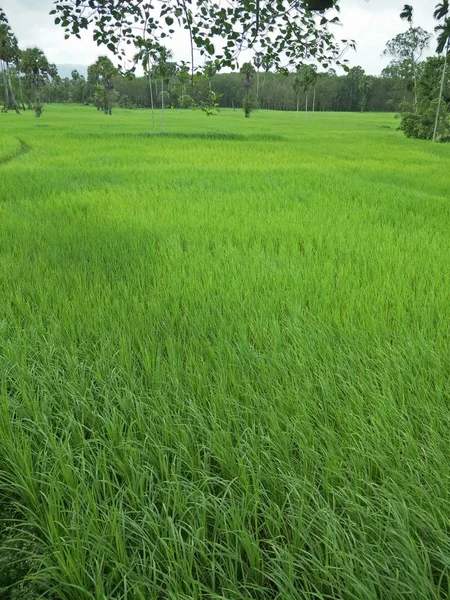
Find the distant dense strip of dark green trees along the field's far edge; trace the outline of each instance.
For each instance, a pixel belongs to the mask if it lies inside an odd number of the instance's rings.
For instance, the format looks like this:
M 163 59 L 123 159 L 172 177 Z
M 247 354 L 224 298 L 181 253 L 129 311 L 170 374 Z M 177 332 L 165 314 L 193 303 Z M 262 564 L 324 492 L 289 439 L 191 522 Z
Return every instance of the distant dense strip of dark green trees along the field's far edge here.
M 94 66 L 92 66 L 92 69 Z M 244 108 L 244 100 L 250 110 L 257 108 L 285 111 L 394 111 L 394 98 L 398 83 L 395 77 L 366 75 L 361 67 L 354 67 L 345 75 L 337 75 L 330 69 L 317 73 L 308 82 L 302 71 L 280 74 L 257 71 L 244 63 L 242 73 L 216 73 L 210 77 L 198 77 L 192 89 L 189 77 L 170 65 L 167 76 L 154 74 L 124 77 L 112 75 L 109 85 L 110 104 L 120 108 L 150 108 L 153 95 L 154 106 L 166 108 L 191 108 L 207 96 L 209 86 L 216 95 L 219 108 Z M 247 73 L 247 74 L 245 74 Z M 106 90 L 100 77 L 93 77 L 91 67 L 85 78 L 78 71 L 71 77 L 56 77 L 43 90 L 46 102 L 76 102 L 92 104 L 103 110 L 107 104 Z M 247 106 L 247 110 L 248 110 Z

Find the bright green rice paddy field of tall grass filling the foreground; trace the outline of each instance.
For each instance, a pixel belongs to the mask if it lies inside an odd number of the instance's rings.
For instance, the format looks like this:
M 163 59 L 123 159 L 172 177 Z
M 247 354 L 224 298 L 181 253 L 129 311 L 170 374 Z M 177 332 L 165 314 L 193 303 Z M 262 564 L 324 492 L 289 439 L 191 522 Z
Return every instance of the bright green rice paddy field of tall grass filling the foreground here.
M 450 147 L 166 125 L 0 115 L 2 600 L 448 598 Z

